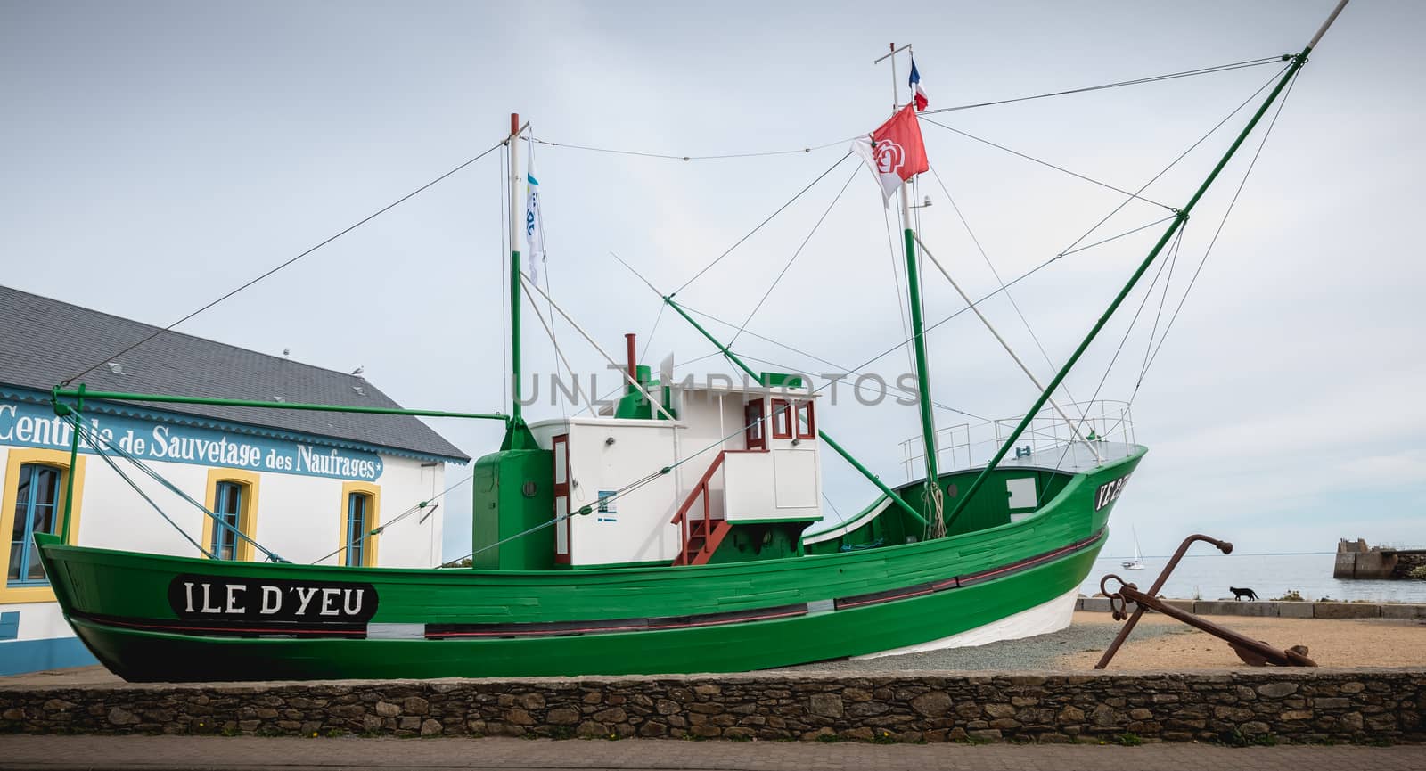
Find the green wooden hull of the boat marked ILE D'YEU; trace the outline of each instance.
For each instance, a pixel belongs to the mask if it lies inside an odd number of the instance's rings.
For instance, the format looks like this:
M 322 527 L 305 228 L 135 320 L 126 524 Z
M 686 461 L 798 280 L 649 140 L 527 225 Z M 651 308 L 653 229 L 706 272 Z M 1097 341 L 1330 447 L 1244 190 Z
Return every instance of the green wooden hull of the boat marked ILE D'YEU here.
M 41 557 L 80 638 L 133 681 L 744 671 L 927 643 L 1064 596 L 1104 544 L 1112 500 L 1101 490 L 1127 477 L 1142 453 L 1074 475 L 1022 522 L 767 562 L 358 569 L 211 562 L 54 539 L 41 540 Z M 248 591 L 224 596 L 231 586 Z M 274 603 L 278 589 L 308 597 L 312 611 L 322 607 L 321 587 L 335 593 L 328 610 L 339 611 L 354 586 L 375 604 L 359 619 L 267 619 L 257 614 L 264 586 Z M 242 613 L 185 613 L 210 604 Z

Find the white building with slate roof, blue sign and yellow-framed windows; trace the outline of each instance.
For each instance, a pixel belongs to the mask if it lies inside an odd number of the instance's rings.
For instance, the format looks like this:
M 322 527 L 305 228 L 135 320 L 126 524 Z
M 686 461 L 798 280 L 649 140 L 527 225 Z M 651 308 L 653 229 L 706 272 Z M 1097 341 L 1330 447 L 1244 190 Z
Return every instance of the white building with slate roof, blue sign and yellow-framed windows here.
M 97 365 L 76 383 L 399 408 L 361 376 L 177 332 L 110 358 L 155 331 L 0 286 L 0 674 L 94 663 L 60 614 L 31 540 L 36 530 L 61 530 L 71 476 L 70 543 L 265 559 L 125 459 L 114 463 L 153 504 L 90 447 L 81 445 L 70 467 L 70 426 L 50 403 L 56 383 Z M 445 465 L 469 460 L 411 416 L 87 400 L 84 419 L 181 493 L 295 563 L 439 564 Z M 419 507 L 422 502 L 428 504 Z M 378 526 L 389 529 L 361 537 Z

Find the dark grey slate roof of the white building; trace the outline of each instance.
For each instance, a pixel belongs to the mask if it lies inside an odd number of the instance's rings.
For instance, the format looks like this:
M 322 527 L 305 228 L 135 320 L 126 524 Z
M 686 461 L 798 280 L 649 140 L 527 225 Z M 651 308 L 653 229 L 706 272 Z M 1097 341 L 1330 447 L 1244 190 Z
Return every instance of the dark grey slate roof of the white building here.
M 137 321 L 0 286 L 0 383 L 48 390 L 86 366 L 104 362 L 81 378 L 90 390 L 261 400 L 281 396 L 288 402 L 401 406 L 362 378 L 180 332 L 165 332 L 111 359 L 157 331 Z M 124 373 L 111 372 L 110 361 L 117 361 Z M 461 462 L 471 459 L 406 415 L 135 403 Z

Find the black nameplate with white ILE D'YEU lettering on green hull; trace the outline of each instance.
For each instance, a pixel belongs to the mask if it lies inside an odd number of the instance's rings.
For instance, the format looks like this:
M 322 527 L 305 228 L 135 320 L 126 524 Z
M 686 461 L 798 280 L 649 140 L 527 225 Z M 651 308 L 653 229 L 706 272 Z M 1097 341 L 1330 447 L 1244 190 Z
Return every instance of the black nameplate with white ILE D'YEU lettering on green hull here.
M 168 583 L 168 606 L 184 620 L 366 623 L 376 614 L 376 587 L 184 574 Z

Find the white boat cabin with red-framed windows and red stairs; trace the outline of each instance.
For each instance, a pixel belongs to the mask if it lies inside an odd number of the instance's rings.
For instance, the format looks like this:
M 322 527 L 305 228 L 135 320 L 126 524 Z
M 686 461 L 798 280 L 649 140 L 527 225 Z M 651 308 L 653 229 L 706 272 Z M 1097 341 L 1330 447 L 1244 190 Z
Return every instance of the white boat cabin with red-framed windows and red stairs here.
M 555 526 L 555 563 L 699 564 L 737 526 L 786 524 L 800 533 L 819 522 L 817 395 L 791 382 L 653 385 L 650 392 L 663 392 L 674 420 L 655 410 L 652 419 L 590 416 L 530 425 L 539 446 L 555 456 L 555 516 L 590 509 Z M 660 475 L 665 467 L 672 470 Z M 674 522 L 680 510 L 687 524 Z M 757 559 L 759 546 L 737 553 L 746 540 L 734 539 L 719 560 Z

